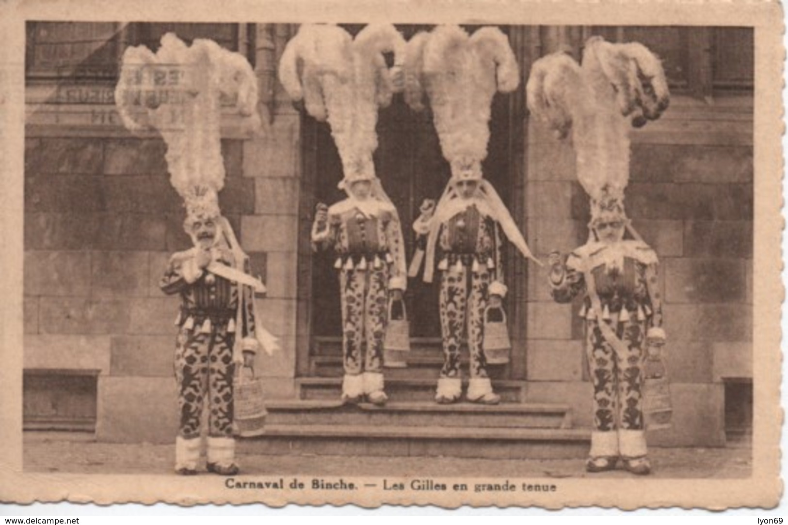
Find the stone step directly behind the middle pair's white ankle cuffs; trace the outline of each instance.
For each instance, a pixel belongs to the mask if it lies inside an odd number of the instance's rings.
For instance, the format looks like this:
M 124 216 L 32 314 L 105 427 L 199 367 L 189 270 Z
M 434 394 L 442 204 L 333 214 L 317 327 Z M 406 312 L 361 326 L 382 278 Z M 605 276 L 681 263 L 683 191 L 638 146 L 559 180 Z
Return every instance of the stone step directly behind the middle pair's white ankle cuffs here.
M 400 401 L 433 401 L 437 379 L 386 379 L 386 394 L 391 402 Z M 468 381 L 463 379 L 463 391 Z M 342 392 L 342 378 L 308 377 L 296 379 L 301 399 L 339 400 Z M 507 403 L 519 403 L 525 400 L 526 383 L 524 381 L 495 380 L 492 389 L 500 394 L 501 400 Z

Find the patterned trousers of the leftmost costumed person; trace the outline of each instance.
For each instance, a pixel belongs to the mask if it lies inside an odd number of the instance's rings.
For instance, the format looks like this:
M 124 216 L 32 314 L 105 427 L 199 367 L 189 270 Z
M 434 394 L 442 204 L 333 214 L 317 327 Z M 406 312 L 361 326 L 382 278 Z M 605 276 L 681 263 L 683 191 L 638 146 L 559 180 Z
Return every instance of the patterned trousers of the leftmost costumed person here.
M 175 349 L 175 378 L 183 438 L 200 434 L 203 404 L 208 399 L 208 435 L 232 437 L 232 347 L 235 334 L 227 324 L 214 324 L 210 333 L 181 327 Z

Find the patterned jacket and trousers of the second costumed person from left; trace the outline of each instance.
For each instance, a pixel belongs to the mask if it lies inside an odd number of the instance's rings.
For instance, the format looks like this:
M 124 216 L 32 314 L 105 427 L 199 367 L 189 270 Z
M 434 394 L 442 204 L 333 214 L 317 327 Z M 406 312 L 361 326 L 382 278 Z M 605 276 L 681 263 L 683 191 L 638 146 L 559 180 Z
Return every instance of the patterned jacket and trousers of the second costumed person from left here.
M 381 372 L 388 291 L 407 287 L 396 209 L 377 199 L 340 201 L 329 208 L 328 227 L 313 228 L 312 241 L 337 256 L 345 374 Z

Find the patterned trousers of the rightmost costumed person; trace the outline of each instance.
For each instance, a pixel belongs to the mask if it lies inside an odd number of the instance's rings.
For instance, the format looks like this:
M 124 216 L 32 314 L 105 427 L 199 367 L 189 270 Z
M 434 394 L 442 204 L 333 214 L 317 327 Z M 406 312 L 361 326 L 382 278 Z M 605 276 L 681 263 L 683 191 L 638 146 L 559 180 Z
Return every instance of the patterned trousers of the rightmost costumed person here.
M 596 320 L 587 321 L 586 328 L 594 427 L 598 431 L 643 430 L 645 324 L 634 320 L 619 324 L 616 335 L 628 349 L 624 355 L 615 353 L 604 340 Z

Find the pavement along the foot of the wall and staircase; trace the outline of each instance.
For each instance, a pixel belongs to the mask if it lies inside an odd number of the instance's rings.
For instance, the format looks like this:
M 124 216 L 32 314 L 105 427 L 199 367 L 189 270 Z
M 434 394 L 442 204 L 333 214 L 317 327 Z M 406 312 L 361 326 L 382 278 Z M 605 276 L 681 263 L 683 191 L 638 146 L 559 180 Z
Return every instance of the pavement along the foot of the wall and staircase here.
M 95 442 L 92 434 L 25 432 L 24 471 L 73 474 L 173 474 L 175 447 L 151 443 Z M 747 443 L 728 448 L 649 449 L 652 477 L 747 478 L 752 473 L 752 449 Z M 454 457 L 354 457 L 277 455 L 243 452 L 238 446 L 242 474 L 325 476 L 488 476 L 546 478 L 622 478 L 631 474 L 616 470 L 585 472 L 583 460 L 458 459 Z M 174 475 L 174 474 L 173 474 Z

